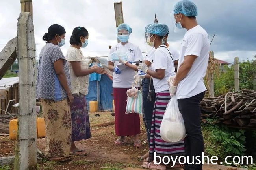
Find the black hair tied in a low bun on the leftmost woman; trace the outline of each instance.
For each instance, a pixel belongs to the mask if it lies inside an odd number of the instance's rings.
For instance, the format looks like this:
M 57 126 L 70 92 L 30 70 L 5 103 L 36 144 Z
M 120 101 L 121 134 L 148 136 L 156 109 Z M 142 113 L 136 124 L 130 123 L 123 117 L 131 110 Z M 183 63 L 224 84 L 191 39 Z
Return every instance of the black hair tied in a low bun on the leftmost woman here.
M 61 36 L 65 33 L 66 33 L 66 31 L 65 31 L 64 27 L 62 27 L 61 25 L 58 25 L 58 24 L 53 24 L 48 28 L 48 33 L 45 33 L 45 35 L 43 36 L 43 40 L 45 42 L 49 42 L 50 40 L 52 40 L 54 38 L 54 36 L 56 34 Z

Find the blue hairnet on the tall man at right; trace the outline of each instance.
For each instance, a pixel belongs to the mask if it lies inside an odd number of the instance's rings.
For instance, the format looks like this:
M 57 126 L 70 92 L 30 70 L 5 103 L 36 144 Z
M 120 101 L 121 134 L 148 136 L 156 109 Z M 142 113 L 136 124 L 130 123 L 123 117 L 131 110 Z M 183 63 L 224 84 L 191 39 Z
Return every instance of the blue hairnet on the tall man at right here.
M 173 8 L 173 14 L 178 13 L 182 13 L 185 16 L 197 16 L 197 6 L 190 0 L 181 0 Z

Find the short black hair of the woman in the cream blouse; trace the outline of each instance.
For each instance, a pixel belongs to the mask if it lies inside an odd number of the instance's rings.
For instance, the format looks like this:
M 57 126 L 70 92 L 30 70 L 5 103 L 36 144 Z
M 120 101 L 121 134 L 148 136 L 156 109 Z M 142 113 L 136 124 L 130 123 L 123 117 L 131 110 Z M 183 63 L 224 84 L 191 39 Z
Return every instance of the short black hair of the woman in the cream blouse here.
M 85 29 L 85 27 L 75 27 L 70 37 L 69 43 L 80 45 L 81 44 L 80 37 L 81 36 L 85 37 L 87 35 L 88 35 L 88 31 L 87 29 Z

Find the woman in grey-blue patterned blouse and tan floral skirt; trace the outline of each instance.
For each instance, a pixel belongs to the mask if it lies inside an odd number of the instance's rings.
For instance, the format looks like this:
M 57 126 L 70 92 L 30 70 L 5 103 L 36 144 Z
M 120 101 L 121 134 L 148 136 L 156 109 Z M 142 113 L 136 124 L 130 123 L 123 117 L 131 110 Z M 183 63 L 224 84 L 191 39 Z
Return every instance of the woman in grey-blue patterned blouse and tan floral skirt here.
M 73 96 L 67 60 L 61 49 L 65 43 L 65 29 L 54 24 L 45 33 L 46 45 L 40 52 L 36 97 L 40 99 L 46 125 L 45 156 L 51 161 L 70 161 L 71 144 L 70 105 Z

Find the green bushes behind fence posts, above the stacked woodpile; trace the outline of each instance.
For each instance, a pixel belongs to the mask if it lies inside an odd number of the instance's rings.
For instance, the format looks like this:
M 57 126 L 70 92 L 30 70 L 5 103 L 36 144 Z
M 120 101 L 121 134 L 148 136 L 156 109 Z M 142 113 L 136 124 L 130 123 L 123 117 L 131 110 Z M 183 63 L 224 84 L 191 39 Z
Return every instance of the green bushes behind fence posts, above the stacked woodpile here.
M 239 87 L 240 89 L 254 89 L 253 81 L 256 75 L 256 56 L 253 60 L 239 63 Z M 234 91 L 234 65 L 224 65 L 224 71 L 219 77 L 214 75 L 214 95 L 220 96 Z

